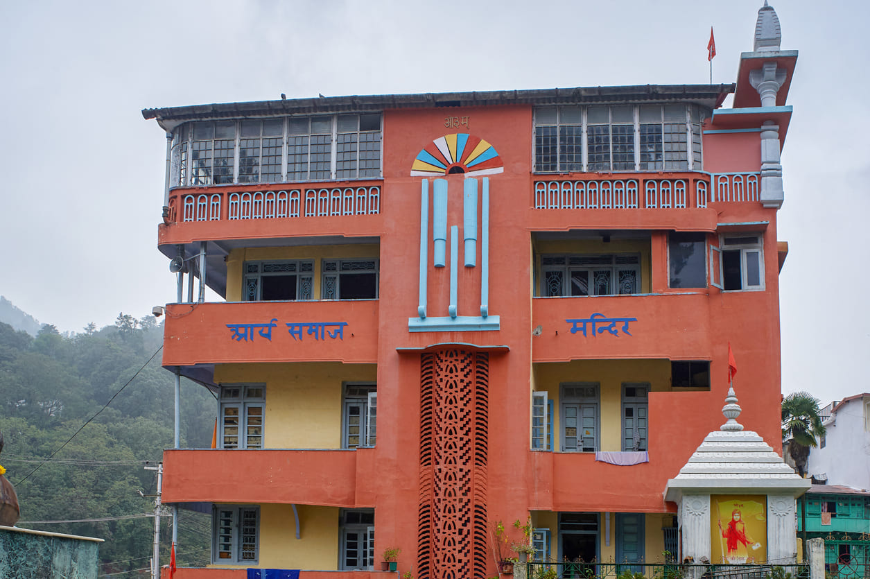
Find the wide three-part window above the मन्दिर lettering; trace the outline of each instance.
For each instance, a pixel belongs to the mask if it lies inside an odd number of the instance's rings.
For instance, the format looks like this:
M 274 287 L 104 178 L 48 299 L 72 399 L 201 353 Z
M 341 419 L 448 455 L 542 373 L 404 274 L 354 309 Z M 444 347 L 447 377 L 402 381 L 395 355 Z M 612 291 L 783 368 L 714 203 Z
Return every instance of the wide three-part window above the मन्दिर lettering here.
M 634 253 L 544 255 L 541 269 L 545 297 L 640 293 L 640 256 Z

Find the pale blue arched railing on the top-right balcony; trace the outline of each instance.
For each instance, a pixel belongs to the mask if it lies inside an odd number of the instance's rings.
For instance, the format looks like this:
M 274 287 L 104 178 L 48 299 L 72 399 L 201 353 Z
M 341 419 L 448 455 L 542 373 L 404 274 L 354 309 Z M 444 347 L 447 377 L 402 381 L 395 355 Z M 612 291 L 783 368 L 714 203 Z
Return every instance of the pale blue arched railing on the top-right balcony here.
M 759 173 L 535 181 L 535 209 L 685 209 L 759 200 Z M 713 187 L 711 188 L 711 183 Z

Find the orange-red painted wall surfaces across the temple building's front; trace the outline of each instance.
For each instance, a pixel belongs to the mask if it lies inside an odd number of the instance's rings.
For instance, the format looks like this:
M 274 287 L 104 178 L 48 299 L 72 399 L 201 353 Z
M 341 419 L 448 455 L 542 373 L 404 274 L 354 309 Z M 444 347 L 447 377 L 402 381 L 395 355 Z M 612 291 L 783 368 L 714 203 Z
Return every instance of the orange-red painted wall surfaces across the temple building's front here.
M 489 177 L 492 199 L 489 304 L 490 313 L 500 317 L 498 331 L 408 331 L 408 318 L 416 315 L 418 306 L 421 209 L 421 178 L 412 178 L 409 173 L 418 151 L 433 139 L 457 131 L 445 128 L 448 115 L 468 117 L 468 131 L 491 143 L 504 162 L 504 172 Z M 758 141 L 757 133 L 706 135 L 706 171 L 757 171 Z M 484 349 L 499 347 L 490 349 L 489 360 L 487 512 L 493 522 L 525 521 L 530 510 L 673 512 L 674 505 L 666 504 L 662 498 L 667 479 L 677 474 L 706 433 L 719 428 L 725 420 L 720 409 L 728 387 L 728 342 L 739 368 L 734 387 L 743 407 L 740 422 L 779 450 L 780 327 L 775 210 L 764 209 L 757 203 L 711 204 L 688 209 L 536 210 L 532 208 L 533 181 L 540 176 L 532 174 L 531 146 L 531 106 L 386 111 L 380 215 L 363 219 L 355 216 L 307 219 L 303 227 L 296 229 L 268 224 L 259 233 L 251 229 L 250 223 L 163 226 L 161 240 L 173 243 L 202 236 L 222 239 L 237 233 L 240 237 L 255 237 L 262 232 L 275 238 L 336 234 L 380 238 L 379 300 L 171 306 L 164 351 L 167 366 L 279 360 L 377 363 L 377 447 L 319 453 L 170 451 L 165 459 L 164 500 L 242 501 L 244 497 L 238 494 L 242 486 L 239 477 L 250 483 L 254 476 L 258 484 L 245 485 L 245 502 L 374 506 L 377 549 L 396 546 L 402 549 L 403 558 L 416 560 L 420 493 L 419 350 L 444 343 L 473 344 Z M 448 181 L 448 225 L 461 227 L 463 176 L 451 176 Z M 684 292 L 667 287 L 669 230 L 707 232 L 708 239 L 714 241 L 733 227 L 719 224 L 749 222 L 766 222 L 753 226 L 764 234 L 765 291 L 723 293 L 707 287 Z M 430 216 L 430 259 L 431 223 Z M 652 294 L 534 298 L 532 235 L 572 229 L 648 232 L 647 284 Z M 428 275 L 428 314 L 445 316 L 449 267 L 429 268 Z M 458 278 L 459 315 L 477 315 L 480 267 L 460 266 Z M 566 319 L 588 318 L 597 312 L 637 318 L 631 325 L 632 335 L 584 337 L 570 333 Z M 230 340 L 225 327 L 228 323 L 267 322 L 273 317 L 279 323 L 310 319 L 344 320 L 349 325 L 344 340 L 298 343 L 291 340 L 286 329 L 279 328 L 274 330 L 271 341 L 258 338 L 253 343 L 238 343 Z M 543 328 L 542 333 L 532 336 L 532 328 L 538 326 Z M 712 387 L 706 392 L 662 390 L 650 395 L 648 463 L 616 467 L 595 462 L 592 454 L 532 452 L 529 447 L 533 368 L 571 360 L 606 359 L 712 360 Z M 636 379 L 626 376 L 626 380 Z M 534 387 L 552 387 L 542 380 L 536 377 Z M 573 380 L 583 380 L 583 376 Z M 268 388 L 267 384 L 267 392 Z M 233 468 L 224 473 L 222 465 L 228 462 Z M 191 469 L 191 464 L 197 468 Z M 218 472 L 226 476 L 224 480 L 217 480 Z M 288 477 L 291 472 L 297 473 L 298 478 Z M 253 495 L 248 494 L 251 488 L 257 488 Z M 177 576 L 184 579 L 180 571 Z

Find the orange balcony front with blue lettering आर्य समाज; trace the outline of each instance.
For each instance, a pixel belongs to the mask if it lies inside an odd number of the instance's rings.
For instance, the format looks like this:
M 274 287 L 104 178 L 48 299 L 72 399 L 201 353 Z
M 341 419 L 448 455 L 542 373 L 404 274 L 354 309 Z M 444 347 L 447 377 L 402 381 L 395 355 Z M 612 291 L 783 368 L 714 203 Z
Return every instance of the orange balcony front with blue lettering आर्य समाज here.
M 378 360 L 378 300 L 170 304 L 164 366 Z

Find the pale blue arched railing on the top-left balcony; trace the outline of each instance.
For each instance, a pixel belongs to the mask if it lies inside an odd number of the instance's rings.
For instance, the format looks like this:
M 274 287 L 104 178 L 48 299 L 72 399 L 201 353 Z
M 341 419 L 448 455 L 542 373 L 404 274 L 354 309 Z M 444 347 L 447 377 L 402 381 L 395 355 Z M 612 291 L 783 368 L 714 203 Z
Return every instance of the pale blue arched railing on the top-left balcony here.
M 380 213 L 380 190 L 380 185 L 366 184 L 277 191 L 173 192 L 168 219 L 187 223 L 375 215 Z

